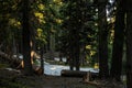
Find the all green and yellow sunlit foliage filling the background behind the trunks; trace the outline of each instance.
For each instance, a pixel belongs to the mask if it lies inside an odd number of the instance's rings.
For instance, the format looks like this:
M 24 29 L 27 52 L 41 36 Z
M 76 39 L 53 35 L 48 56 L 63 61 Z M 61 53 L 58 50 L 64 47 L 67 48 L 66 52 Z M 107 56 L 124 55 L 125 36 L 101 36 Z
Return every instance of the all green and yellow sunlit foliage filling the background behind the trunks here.
M 98 16 L 94 0 L 37 0 L 31 1 L 30 6 L 30 24 L 35 33 L 36 47 L 48 46 L 50 36 L 55 34 L 56 51 L 68 55 L 69 36 L 78 31 L 80 48 L 86 57 L 89 61 L 97 58 Z M 21 0 L 0 1 L 0 44 L 6 44 L 10 51 L 14 41 L 16 48 L 22 48 L 21 7 Z M 88 45 L 90 48 L 86 48 Z

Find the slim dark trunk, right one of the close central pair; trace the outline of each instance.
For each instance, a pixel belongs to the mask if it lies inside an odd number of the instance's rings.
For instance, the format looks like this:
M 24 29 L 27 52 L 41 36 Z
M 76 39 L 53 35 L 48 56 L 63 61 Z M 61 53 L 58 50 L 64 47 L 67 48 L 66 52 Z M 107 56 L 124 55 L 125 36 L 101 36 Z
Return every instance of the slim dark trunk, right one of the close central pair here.
M 81 26 L 82 26 L 82 23 L 81 23 L 81 21 L 79 21 L 79 20 L 81 20 L 81 10 L 80 9 L 82 9 L 84 7 L 81 7 L 81 4 L 82 4 L 82 1 L 81 0 L 77 0 L 76 1 L 76 9 L 78 9 L 77 10 L 77 12 L 76 12 L 76 19 L 77 20 L 75 20 L 76 21 L 76 32 L 75 32 L 75 61 L 76 61 L 76 63 L 75 63 L 75 66 L 76 66 L 76 70 L 79 70 L 80 69 L 80 38 L 79 38 L 79 31 L 81 30 Z

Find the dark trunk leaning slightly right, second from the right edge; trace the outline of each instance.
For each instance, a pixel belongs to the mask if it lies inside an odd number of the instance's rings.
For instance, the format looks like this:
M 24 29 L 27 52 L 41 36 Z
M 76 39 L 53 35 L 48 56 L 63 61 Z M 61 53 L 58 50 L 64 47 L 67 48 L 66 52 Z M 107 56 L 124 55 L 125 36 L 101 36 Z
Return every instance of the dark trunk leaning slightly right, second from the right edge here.
M 112 63 L 110 75 L 117 80 L 121 79 L 122 56 L 123 56 L 123 41 L 124 41 L 124 10 L 122 1 L 118 2 L 116 24 L 114 24 L 114 40 L 112 50 Z

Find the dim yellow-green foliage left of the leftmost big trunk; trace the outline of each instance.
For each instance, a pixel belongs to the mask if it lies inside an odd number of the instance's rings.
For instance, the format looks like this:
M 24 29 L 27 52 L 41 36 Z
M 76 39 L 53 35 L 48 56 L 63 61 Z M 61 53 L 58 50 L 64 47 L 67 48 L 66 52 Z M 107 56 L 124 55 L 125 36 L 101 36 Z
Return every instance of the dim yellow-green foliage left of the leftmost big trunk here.
M 20 25 L 19 21 L 20 15 L 20 0 L 6 0 L 0 1 L 0 44 L 6 46 L 1 46 L 4 51 L 12 52 L 13 40 L 19 44 L 21 40 Z M 18 7 L 19 6 L 19 7 Z M 2 50 L 3 50 L 2 48 Z

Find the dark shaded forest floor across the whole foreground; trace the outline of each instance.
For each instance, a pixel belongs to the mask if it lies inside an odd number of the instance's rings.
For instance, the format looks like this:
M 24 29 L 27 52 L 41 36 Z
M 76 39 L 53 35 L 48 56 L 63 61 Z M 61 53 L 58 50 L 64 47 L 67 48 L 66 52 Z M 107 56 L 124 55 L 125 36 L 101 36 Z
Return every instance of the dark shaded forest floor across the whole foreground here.
M 116 80 L 94 80 L 84 82 L 82 78 L 48 75 L 24 76 L 21 70 L 10 69 L 0 63 L 0 88 L 125 88 Z

